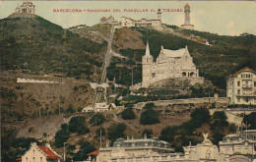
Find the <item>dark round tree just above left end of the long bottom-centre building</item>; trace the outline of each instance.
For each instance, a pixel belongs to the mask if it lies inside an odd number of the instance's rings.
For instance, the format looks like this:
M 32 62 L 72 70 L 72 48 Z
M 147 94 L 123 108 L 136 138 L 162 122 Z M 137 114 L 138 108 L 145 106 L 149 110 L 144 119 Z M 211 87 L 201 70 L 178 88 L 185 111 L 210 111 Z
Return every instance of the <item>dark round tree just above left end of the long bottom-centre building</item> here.
M 119 123 L 111 125 L 107 129 L 108 139 L 113 143 L 118 137 L 125 137 L 124 132 L 126 130 L 126 125 Z

